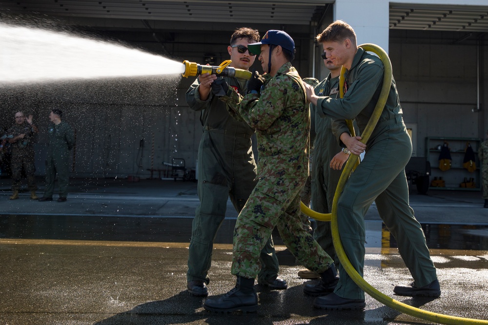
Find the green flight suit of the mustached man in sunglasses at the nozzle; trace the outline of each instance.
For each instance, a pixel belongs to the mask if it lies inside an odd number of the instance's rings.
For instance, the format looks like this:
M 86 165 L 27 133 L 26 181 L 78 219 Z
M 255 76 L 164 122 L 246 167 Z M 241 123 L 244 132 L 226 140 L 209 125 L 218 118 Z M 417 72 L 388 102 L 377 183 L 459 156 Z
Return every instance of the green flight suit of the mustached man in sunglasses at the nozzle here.
M 225 77 L 230 87 L 239 92 L 247 89 L 246 80 Z M 200 99 L 199 80 L 186 92 L 186 102 L 200 111 L 203 134 L 198 148 L 198 197 L 188 248 L 187 281 L 209 283 L 208 270 L 212 262 L 213 242 L 224 222 L 227 199 L 240 212 L 256 185 L 256 163 L 251 147 L 254 128 L 229 115 L 224 102 L 210 92 L 207 100 Z M 279 263 L 271 236 L 261 250 L 264 268 L 259 280 L 278 275 Z

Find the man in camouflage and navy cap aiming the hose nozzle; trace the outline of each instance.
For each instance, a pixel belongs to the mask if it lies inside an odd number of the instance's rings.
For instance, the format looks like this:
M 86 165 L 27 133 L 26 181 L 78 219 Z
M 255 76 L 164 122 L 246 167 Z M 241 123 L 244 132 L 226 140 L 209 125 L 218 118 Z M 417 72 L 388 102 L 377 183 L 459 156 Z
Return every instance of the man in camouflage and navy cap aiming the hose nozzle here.
M 210 311 L 255 311 L 258 297 L 254 279 L 261 268 L 259 253 L 277 227 L 286 247 L 305 267 L 321 273 L 331 291 L 337 284 L 332 259 L 303 228 L 300 193 L 308 176 L 310 113 L 302 79 L 290 61 L 295 43 L 283 31 L 269 30 L 261 42 L 248 45 L 266 75 L 253 75 L 241 97 L 224 82 L 214 82 L 212 92 L 236 118 L 256 128 L 258 183 L 237 218 L 234 230 L 232 274 L 236 287 L 219 299 L 205 300 Z M 238 103 L 238 104 L 236 104 Z

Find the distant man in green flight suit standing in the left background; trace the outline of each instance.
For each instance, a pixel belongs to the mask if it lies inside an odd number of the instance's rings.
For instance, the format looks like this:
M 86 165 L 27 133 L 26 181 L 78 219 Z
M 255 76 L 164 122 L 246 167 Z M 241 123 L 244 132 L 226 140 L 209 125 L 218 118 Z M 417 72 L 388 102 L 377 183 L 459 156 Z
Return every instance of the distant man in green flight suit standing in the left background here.
M 60 196 L 58 202 L 65 202 L 68 196 L 69 151 L 75 145 L 75 135 L 71 126 L 61 120 L 60 109 L 51 110 L 49 119 L 53 122 L 48 130 L 49 147 L 46 157 L 46 189 L 39 201 L 52 201 L 54 180 L 58 175 Z

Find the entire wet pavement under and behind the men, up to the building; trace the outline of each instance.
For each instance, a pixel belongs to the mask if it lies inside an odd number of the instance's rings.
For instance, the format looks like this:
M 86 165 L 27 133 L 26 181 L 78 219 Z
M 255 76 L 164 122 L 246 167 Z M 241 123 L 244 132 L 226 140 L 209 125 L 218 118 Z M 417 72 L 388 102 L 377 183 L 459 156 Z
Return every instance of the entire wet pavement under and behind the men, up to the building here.
M 257 313 L 208 313 L 203 299 L 185 290 L 196 183 L 73 179 L 71 189 L 64 203 L 33 201 L 27 192 L 10 201 L 10 180 L 0 179 L 0 324 L 432 324 L 368 295 L 363 311 L 313 308 L 303 294 L 310 281 L 297 277 L 301 266 L 278 235 L 288 289 L 256 285 Z M 481 193 L 412 191 L 410 203 L 438 269 L 441 298 L 393 294 L 395 284 L 411 279 L 375 206 L 366 217 L 366 281 L 411 306 L 487 320 L 488 209 Z M 237 213 L 230 203 L 227 210 L 214 246 L 211 295 L 235 282 L 229 270 Z

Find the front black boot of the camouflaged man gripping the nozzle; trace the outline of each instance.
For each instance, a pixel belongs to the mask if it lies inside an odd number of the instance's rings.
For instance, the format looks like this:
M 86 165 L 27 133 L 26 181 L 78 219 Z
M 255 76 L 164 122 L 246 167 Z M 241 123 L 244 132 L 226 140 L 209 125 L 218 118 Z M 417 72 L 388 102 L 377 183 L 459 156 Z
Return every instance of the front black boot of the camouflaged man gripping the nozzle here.
M 258 310 L 258 295 L 254 291 L 254 279 L 246 279 L 238 275 L 235 288 L 220 298 L 206 299 L 203 308 L 221 313 L 235 310 L 244 312 Z

